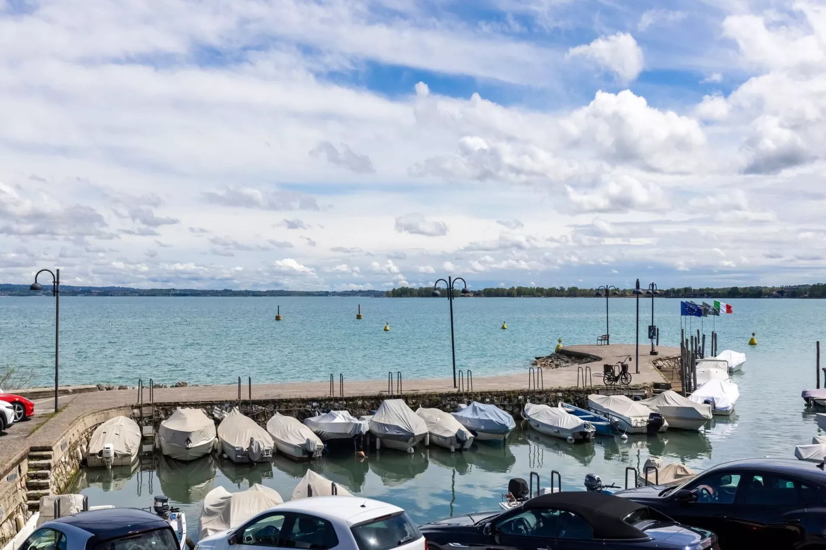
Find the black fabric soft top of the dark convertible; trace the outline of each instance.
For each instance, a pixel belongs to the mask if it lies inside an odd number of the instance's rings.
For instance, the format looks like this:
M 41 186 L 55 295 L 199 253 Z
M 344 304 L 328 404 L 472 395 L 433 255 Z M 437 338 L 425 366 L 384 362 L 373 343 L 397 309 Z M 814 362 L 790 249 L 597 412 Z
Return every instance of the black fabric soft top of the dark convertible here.
M 615 495 L 605 495 L 596 491 L 563 491 L 553 495 L 539 495 L 526 500 L 523 510 L 554 509 L 566 510 L 581 515 L 591 529 L 594 538 L 645 538 L 645 533 L 626 523 L 624 518 L 646 505 Z

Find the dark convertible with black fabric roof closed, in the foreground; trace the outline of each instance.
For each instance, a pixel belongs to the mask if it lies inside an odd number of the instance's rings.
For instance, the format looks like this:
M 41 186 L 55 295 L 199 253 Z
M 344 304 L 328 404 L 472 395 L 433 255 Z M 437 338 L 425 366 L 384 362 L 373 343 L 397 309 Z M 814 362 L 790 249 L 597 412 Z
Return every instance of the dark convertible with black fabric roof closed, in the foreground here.
M 502 513 L 422 525 L 430 550 L 717 548 L 710 531 L 677 524 L 633 500 L 596 492 L 541 495 Z

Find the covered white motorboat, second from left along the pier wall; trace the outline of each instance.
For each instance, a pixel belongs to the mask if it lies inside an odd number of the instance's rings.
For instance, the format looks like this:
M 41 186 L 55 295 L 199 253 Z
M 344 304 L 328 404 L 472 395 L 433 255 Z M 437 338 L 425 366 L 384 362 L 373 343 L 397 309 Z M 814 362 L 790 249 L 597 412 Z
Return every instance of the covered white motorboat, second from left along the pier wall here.
M 178 409 L 160 423 L 158 445 L 169 458 L 189 462 L 212 452 L 216 433 L 215 420 L 201 409 Z

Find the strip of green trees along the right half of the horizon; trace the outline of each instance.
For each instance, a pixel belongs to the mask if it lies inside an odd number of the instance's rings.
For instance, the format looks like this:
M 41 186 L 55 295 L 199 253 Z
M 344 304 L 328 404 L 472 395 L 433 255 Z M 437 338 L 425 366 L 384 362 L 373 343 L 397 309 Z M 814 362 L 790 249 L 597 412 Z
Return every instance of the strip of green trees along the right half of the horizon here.
M 642 290 L 646 292 L 648 287 L 643 287 Z M 658 296 L 664 298 L 823 298 L 826 297 L 826 283 L 795 287 L 672 287 L 661 288 L 658 291 Z M 460 296 L 459 292 L 460 289 L 457 289 L 453 296 Z M 487 298 L 589 298 L 596 296 L 596 292 L 596 288 L 580 287 L 490 287 L 472 290 L 472 295 Z M 433 287 L 399 287 L 387 291 L 387 297 L 429 298 L 432 293 Z M 448 291 L 439 288 L 439 294 L 444 297 L 448 295 Z M 611 290 L 611 296 L 634 296 L 634 289 Z

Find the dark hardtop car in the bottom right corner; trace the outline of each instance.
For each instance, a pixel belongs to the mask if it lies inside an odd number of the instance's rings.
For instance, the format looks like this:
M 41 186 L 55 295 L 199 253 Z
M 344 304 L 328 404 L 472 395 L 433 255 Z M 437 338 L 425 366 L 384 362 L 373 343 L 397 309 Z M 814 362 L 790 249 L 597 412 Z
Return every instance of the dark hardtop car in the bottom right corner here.
M 826 548 L 822 466 L 747 458 L 712 467 L 682 486 L 638 487 L 615 495 L 714 531 L 723 550 Z

